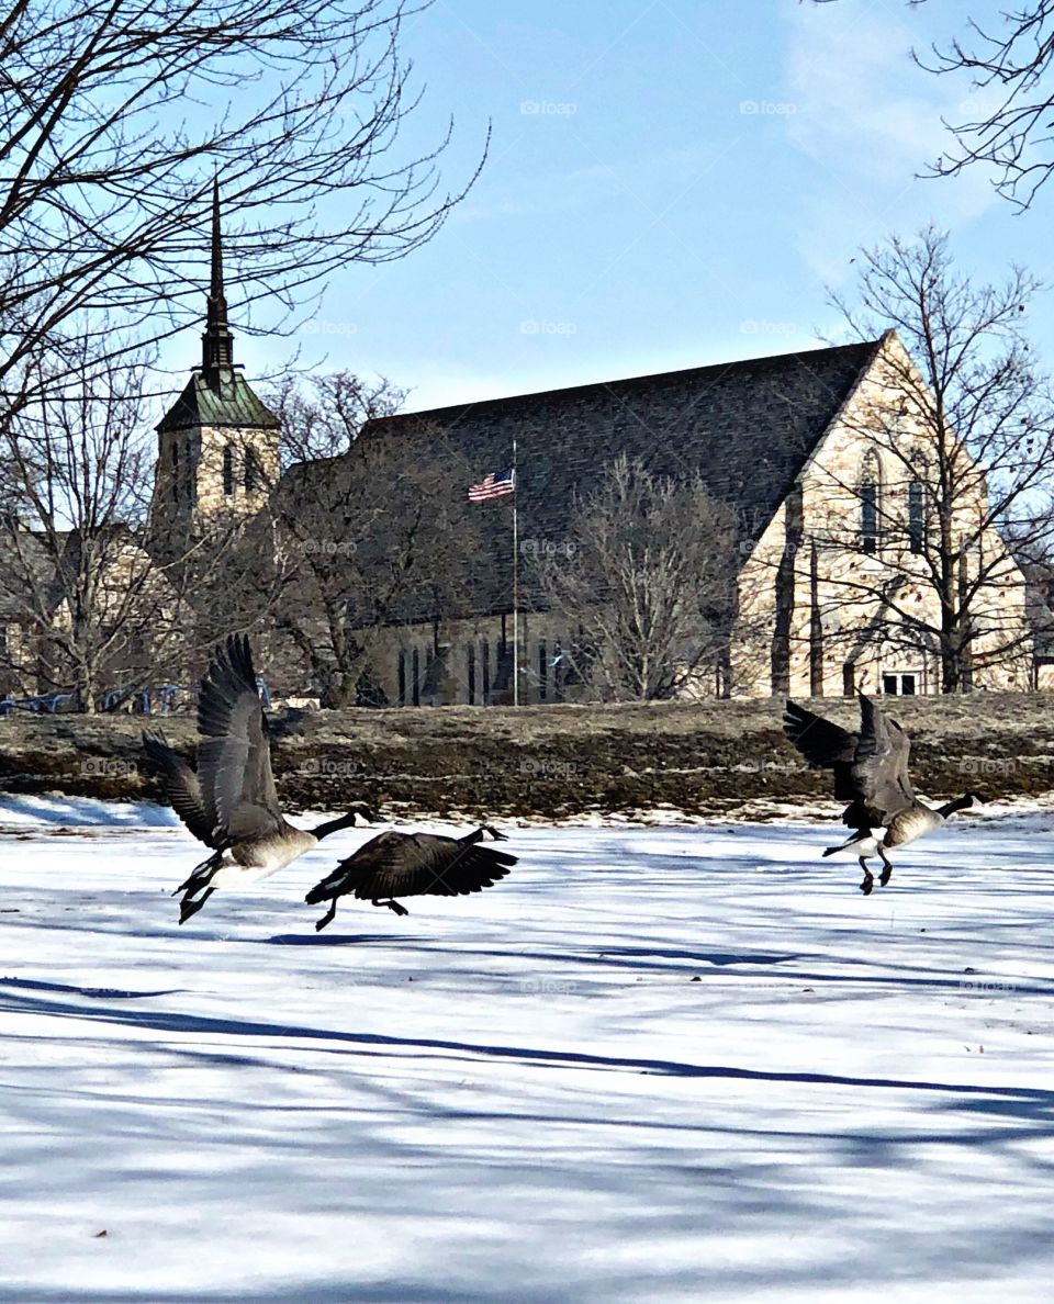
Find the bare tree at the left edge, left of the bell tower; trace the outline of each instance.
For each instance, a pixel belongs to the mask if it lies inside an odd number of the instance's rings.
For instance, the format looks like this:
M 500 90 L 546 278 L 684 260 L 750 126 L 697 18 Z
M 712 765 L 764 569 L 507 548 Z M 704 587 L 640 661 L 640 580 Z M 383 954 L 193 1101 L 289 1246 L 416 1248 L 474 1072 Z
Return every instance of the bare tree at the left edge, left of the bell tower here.
M 69 353 L 74 356 L 69 356 Z M 95 356 L 90 339 L 38 378 L 42 402 L 0 432 L 0 591 L 10 677 L 72 690 L 93 712 L 113 678 L 140 687 L 177 656 L 183 595 L 145 546 L 150 359 Z M 76 379 L 74 379 L 76 377 Z

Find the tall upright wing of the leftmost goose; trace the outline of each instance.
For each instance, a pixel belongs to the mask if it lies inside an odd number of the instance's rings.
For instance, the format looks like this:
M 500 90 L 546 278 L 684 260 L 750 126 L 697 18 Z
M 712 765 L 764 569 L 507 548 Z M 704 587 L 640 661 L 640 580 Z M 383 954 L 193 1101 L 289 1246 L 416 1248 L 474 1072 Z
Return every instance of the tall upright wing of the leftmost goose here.
M 284 820 L 245 635 L 232 635 L 213 657 L 198 696 L 198 780 L 218 840 L 230 846 L 279 833 Z

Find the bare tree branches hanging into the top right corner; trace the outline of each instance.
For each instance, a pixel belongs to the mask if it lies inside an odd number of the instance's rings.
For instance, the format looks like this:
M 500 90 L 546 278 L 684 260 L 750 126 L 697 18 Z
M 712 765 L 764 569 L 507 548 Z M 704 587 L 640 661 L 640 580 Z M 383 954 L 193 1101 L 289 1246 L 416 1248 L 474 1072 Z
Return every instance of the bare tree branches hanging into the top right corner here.
M 947 124 L 956 149 L 937 159 L 933 172 L 955 176 L 980 163 L 995 172 L 1002 196 L 1028 209 L 1054 172 L 1054 3 L 1021 0 L 1012 9 L 993 4 L 987 21 L 968 17 L 963 25 L 965 35 L 946 48 L 913 51 L 912 57 L 933 73 L 968 76 L 974 90 L 995 95 L 995 107 L 985 116 Z

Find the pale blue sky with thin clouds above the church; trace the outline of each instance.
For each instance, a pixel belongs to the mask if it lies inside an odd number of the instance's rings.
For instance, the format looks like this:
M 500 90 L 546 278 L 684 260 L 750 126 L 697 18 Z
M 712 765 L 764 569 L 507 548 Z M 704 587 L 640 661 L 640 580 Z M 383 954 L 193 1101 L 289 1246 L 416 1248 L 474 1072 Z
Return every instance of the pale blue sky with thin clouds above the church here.
M 299 348 L 412 409 L 815 347 L 844 335 L 826 287 L 852 293 L 857 248 L 929 220 L 978 279 L 1016 261 L 1054 282 L 1054 189 L 1015 216 L 981 175 L 916 179 L 942 115 L 977 100 L 908 51 L 967 8 L 436 0 L 406 33 L 425 95 L 404 146 L 453 113 L 457 185 L 489 121 L 480 180 L 430 245 L 350 266 L 297 334 L 243 334 L 239 360 L 260 376 Z M 1054 355 L 1046 297 L 1031 326 Z

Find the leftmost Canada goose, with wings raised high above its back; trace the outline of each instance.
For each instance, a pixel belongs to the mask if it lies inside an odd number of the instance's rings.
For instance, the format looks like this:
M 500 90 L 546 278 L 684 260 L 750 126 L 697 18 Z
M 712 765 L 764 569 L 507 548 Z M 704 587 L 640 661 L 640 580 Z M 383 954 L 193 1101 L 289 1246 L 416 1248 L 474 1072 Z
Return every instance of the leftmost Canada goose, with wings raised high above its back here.
M 351 828 L 356 818 L 376 818 L 360 805 L 310 831 L 287 823 L 278 805 L 267 720 L 245 635 L 228 638 L 209 665 L 198 696 L 198 733 L 197 771 L 162 734 L 142 735 L 172 810 L 214 853 L 176 888 L 184 893 L 180 923 L 197 914 L 217 888 L 274 874 L 321 838 Z

